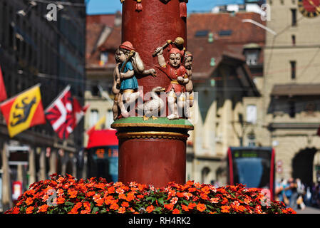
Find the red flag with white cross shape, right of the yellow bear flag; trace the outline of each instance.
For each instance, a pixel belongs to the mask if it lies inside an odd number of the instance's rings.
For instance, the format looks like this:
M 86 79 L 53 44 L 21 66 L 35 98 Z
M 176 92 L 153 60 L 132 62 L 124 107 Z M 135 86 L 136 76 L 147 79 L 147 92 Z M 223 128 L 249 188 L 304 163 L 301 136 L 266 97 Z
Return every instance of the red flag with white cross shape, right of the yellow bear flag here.
M 73 99 L 70 88 L 71 86 L 66 86 L 45 110 L 46 119 L 61 139 L 67 139 L 73 132 Z

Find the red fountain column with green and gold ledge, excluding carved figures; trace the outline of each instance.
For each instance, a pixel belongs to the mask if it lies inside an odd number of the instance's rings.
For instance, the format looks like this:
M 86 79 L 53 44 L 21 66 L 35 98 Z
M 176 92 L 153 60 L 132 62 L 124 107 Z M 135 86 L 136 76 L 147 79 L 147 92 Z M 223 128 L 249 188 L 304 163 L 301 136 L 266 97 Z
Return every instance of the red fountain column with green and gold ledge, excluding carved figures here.
M 179 0 L 142 0 L 142 11 L 136 10 L 137 4 L 136 0 L 123 2 L 121 43 L 133 43 L 146 69 L 158 66 L 153 52 L 167 40 L 182 37 L 187 48 L 186 19 L 180 17 Z M 167 61 L 167 49 L 163 55 Z M 144 93 L 170 85 L 170 79 L 155 69 L 155 78 L 138 77 Z M 120 182 L 134 181 L 155 187 L 165 187 L 168 182 L 185 183 L 187 131 L 193 129 L 189 121 L 166 117 L 144 121 L 142 117 L 130 117 L 115 120 L 112 127 L 118 130 Z

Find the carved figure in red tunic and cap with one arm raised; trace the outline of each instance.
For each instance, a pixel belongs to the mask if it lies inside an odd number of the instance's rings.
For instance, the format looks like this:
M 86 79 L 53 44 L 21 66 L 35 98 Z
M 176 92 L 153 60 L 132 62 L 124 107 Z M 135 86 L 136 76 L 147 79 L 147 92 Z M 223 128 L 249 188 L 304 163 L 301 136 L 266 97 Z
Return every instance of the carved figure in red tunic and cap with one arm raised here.
M 170 110 L 168 119 L 178 119 L 179 110 L 182 110 L 186 103 L 185 85 L 189 82 L 187 71 L 182 66 L 182 58 L 184 56 L 184 50 L 180 51 L 178 48 L 172 47 L 169 44 L 169 61 L 165 61 L 163 56 L 163 48 L 158 47 L 155 49 L 155 53 L 158 56 L 159 69 L 163 71 L 168 78 L 170 78 L 170 86 L 167 88 L 167 103 Z

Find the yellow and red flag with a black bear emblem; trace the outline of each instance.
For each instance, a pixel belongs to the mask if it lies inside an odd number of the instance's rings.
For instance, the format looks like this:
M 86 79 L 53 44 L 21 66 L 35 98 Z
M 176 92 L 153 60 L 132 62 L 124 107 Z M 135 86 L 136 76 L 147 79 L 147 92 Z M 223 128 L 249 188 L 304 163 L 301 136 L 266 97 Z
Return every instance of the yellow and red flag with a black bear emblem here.
M 46 123 L 41 102 L 40 84 L 24 90 L 0 104 L 10 137 L 34 125 Z

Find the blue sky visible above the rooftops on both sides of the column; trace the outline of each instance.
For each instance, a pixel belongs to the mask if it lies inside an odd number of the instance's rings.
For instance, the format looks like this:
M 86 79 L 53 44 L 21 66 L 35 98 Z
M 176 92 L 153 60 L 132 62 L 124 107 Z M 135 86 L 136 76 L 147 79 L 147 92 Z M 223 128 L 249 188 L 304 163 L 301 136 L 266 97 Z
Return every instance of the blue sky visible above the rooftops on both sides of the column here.
M 86 2 L 87 14 L 114 14 L 122 9 L 120 0 L 86 0 Z M 211 11 L 217 5 L 242 4 L 243 2 L 244 0 L 189 0 L 187 11 L 190 13 L 194 11 Z

